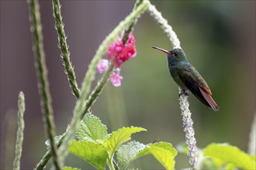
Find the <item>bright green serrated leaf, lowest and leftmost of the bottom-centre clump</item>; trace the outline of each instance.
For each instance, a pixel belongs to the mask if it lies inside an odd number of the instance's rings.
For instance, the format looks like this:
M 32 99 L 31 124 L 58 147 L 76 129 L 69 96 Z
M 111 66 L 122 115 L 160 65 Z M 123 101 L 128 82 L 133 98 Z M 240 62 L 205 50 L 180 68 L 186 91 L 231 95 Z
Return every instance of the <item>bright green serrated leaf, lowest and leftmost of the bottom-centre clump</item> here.
M 85 159 L 87 162 L 95 166 L 95 168 L 104 169 L 107 158 L 109 157 L 106 149 L 101 144 L 91 141 L 72 141 L 68 150 L 71 154 L 77 155 Z

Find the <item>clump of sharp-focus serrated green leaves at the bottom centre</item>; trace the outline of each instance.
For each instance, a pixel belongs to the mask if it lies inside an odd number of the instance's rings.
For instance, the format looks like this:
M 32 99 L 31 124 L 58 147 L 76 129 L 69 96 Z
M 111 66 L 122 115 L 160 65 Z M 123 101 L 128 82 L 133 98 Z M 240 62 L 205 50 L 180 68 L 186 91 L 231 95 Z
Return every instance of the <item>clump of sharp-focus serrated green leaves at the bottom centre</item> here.
M 144 145 L 138 141 L 130 141 L 131 134 L 146 129 L 119 128 L 112 134 L 108 134 L 106 130 L 106 125 L 102 124 L 98 117 L 86 114 L 76 133 L 78 141 L 72 141 L 68 150 L 99 169 L 104 169 L 106 164 L 111 169 L 126 169 L 134 159 L 150 154 L 154 155 L 164 168 L 174 168 L 177 151 L 171 144 L 159 142 Z M 130 142 L 124 144 L 126 141 Z M 115 154 L 118 164 L 113 159 Z

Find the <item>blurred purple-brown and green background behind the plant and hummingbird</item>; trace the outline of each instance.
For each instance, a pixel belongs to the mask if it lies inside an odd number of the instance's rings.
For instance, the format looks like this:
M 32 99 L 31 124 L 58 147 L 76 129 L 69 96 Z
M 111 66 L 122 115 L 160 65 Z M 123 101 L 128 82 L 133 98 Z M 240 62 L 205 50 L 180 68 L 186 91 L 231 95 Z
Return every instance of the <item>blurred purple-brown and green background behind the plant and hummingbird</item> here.
M 16 141 L 18 93 L 26 97 L 25 140 L 21 168 L 31 169 L 45 153 L 26 1 L 1 2 L 1 169 L 12 168 Z M 195 138 L 199 148 L 229 142 L 247 151 L 255 112 L 255 1 L 152 1 L 173 27 L 187 57 L 205 78 L 220 111 L 190 95 Z M 78 84 L 99 44 L 130 13 L 133 1 L 61 1 L 61 12 Z M 64 74 L 50 1 L 40 1 L 44 49 L 49 70 L 57 134 L 71 121 L 75 97 Z M 133 139 L 150 143 L 185 140 L 178 104 L 178 86 L 168 72 L 166 57 L 152 49 L 171 49 L 168 38 L 146 12 L 134 29 L 137 57 L 122 66 L 121 87 L 109 83 L 92 113 L 109 132 L 123 126 L 146 128 Z M 97 76 L 97 79 L 100 75 Z M 95 84 L 95 83 L 94 83 Z M 93 168 L 70 155 L 66 165 Z M 178 155 L 176 168 L 188 167 Z M 139 158 L 130 168 L 161 169 L 152 157 Z

